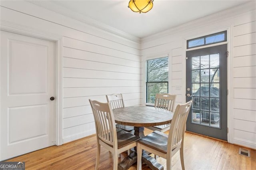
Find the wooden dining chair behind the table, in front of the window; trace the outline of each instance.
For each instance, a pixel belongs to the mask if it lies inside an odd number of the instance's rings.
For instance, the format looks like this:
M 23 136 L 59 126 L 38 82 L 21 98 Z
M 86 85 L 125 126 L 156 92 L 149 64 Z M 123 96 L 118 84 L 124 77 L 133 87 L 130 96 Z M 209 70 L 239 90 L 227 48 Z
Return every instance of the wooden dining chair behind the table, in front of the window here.
M 176 95 L 171 95 L 167 93 L 158 93 L 156 94 L 156 99 L 155 99 L 155 107 L 161 108 L 161 109 L 166 109 L 168 111 L 173 112 L 174 111 L 174 105 L 176 101 Z M 150 130 L 157 130 L 160 132 L 166 132 L 167 130 L 170 129 L 170 123 L 166 125 L 159 125 L 159 126 L 154 126 L 154 127 L 146 127 Z

